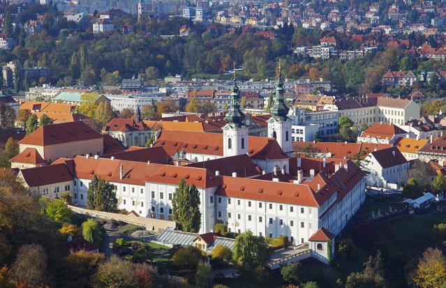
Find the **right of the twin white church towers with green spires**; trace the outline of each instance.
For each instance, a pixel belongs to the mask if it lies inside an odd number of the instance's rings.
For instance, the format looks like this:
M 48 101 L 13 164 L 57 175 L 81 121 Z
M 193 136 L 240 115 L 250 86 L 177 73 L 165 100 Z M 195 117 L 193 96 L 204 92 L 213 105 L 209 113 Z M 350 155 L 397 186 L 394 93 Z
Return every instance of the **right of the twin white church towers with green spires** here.
M 271 118 L 268 122 L 268 137 L 276 139 L 285 153 L 292 151 L 291 144 L 291 121 L 288 118 L 288 108 L 285 105 L 285 98 L 283 97 L 283 81 L 281 73 L 281 63 L 278 64 L 278 82 L 275 89 L 275 96 L 273 105 L 271 107 Z

